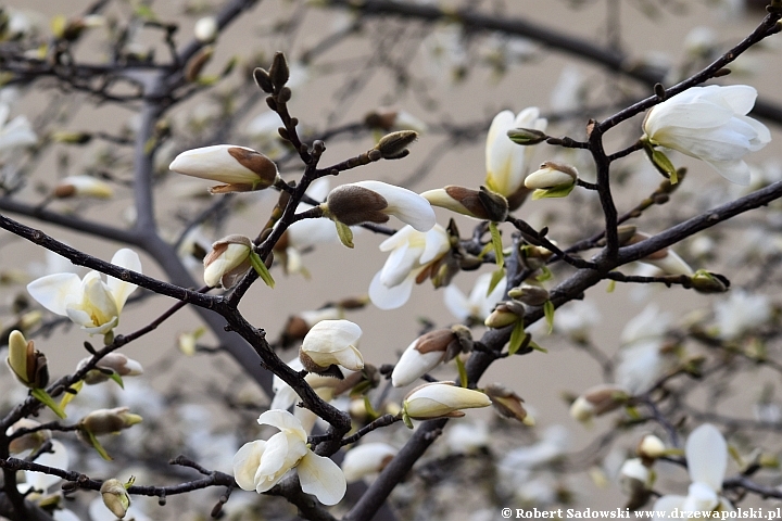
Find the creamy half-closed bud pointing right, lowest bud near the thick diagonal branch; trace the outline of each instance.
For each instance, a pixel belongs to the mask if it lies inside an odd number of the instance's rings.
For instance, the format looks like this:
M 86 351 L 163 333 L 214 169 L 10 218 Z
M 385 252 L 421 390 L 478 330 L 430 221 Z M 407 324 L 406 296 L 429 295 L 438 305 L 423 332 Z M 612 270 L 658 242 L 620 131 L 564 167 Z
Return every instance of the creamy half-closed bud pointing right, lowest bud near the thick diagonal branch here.
M 480 391 L 459 387 L 453 382 L 431 382 L 419 385 L 402 403 L 405 416 L 414 420 L 459 418 L 459 409 L 489 407 L 491 399 Z

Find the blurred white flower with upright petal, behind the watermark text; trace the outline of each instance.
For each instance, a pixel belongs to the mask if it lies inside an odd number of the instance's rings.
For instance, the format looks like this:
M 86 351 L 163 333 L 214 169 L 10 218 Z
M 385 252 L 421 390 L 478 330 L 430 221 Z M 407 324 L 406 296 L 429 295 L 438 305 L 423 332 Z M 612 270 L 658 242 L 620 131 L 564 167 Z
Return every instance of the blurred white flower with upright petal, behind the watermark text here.
M 684 452 L 692 480 L 688 495 L 665 495 L 655 501 L 652 510 L 672 512 L 679 509 L 683 517 L 689 517 L 686 513 L 690 512 L 733 510 L 730 501 L 719 495 L 728 467 L 728 444 L 722 434 L 712 424 L 704 423 L 690 434 Z M 669 518 L 665 516 L 658 519 Z

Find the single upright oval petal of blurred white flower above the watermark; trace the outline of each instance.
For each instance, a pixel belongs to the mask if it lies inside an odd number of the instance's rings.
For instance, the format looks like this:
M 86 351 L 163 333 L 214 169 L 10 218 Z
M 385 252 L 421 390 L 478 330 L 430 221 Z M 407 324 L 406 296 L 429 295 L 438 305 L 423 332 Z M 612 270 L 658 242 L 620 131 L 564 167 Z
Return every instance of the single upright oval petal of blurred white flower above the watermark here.
M 721 491 L 728 466 L 728 444 L 717 428 L 704 423 L 695 429 L 688 439 L 685 453 L 690 479 L 706 483 L 712 491 Z

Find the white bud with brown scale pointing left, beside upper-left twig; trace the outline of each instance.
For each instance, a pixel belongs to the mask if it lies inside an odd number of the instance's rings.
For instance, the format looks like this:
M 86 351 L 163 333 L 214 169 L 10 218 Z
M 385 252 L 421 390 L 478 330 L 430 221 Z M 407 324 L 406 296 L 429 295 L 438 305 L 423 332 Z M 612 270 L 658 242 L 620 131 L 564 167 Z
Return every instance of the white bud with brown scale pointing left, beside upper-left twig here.
M 263 190 L 279 179 L 277 165 L 260 152 L 234 144 L 215 144 L 182 152 L 168 168 L 177 174 L 223 182 L 212 193 Z

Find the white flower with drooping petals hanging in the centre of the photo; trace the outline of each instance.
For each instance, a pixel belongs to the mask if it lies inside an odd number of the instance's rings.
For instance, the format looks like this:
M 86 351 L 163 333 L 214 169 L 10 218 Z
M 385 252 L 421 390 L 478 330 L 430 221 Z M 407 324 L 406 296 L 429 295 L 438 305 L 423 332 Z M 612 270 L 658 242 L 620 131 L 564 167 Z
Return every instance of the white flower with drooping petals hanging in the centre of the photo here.
M 380 251 L 391 254 L 369 284 L 373 304 L 380 309 L 403 306 L 418 276 L 439 262 L 450 247 L 447 232 L 440 225 L 434 225 L 427 232 L 405 226 L 386 239 L 380 243 Z

